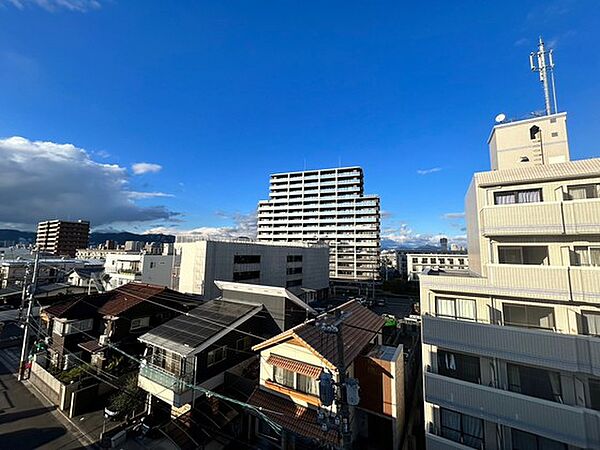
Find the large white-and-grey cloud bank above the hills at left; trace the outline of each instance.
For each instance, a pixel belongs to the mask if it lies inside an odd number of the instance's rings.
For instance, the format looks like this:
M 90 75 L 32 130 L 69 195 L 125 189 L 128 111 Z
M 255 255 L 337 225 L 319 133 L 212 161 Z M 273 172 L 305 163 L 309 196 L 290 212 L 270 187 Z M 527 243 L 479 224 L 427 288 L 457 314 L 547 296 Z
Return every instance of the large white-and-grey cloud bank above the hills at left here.
M 178 216 L 164 206 L 136 205 L 138 198 L 168 194 L 132 193 L 125 168 L 96 162 L 71 144 L 0 139 L 0 174 L 0 223 L 15 227 L 31 228 L 51 218 L 98 226 Z

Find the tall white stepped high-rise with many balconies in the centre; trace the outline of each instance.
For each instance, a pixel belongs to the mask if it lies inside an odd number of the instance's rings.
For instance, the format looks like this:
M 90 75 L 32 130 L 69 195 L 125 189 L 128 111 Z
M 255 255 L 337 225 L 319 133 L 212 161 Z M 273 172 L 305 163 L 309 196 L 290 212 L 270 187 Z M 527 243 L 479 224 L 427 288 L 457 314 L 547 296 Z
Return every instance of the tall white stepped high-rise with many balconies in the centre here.
M 360 167 L 273 174 L 269 200 L 258 204 L 258 240 L 322 241 L 332 281 L 377 279 L 379 205 L 364 194 Z

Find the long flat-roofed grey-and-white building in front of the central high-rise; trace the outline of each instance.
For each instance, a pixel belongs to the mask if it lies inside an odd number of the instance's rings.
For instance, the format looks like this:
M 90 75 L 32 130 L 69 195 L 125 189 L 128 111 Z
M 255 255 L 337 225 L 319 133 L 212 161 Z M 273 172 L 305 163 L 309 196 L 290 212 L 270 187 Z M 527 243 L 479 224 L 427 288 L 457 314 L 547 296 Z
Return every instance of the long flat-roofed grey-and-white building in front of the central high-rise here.
M 177 236 L 175 277 L 180 292 L 220 295 L 215 281 L 284 287 L 303 300 L 329 290 L 329 248 L 319 243 L 253 242 Z

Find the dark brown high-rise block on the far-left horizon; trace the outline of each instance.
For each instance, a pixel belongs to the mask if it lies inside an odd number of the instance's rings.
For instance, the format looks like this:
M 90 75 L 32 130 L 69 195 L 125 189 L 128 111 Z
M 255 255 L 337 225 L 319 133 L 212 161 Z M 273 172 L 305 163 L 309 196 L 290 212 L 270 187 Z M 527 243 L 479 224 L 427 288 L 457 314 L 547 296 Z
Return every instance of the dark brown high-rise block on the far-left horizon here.
M 53 255 L 75 257 L 78 248 L 88 246 L 90 223 L 84 220 L 46 220 L 38 223 L 35 245 Z

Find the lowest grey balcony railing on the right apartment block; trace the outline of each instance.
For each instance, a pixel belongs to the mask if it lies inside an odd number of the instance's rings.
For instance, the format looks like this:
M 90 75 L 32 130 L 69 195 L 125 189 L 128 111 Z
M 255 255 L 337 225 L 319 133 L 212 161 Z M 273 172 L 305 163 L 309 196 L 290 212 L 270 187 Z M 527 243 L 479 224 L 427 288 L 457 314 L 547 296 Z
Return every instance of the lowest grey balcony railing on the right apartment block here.
M 425 400 L 582 448 L 600 448 L 600 412 L 425 373 Z

